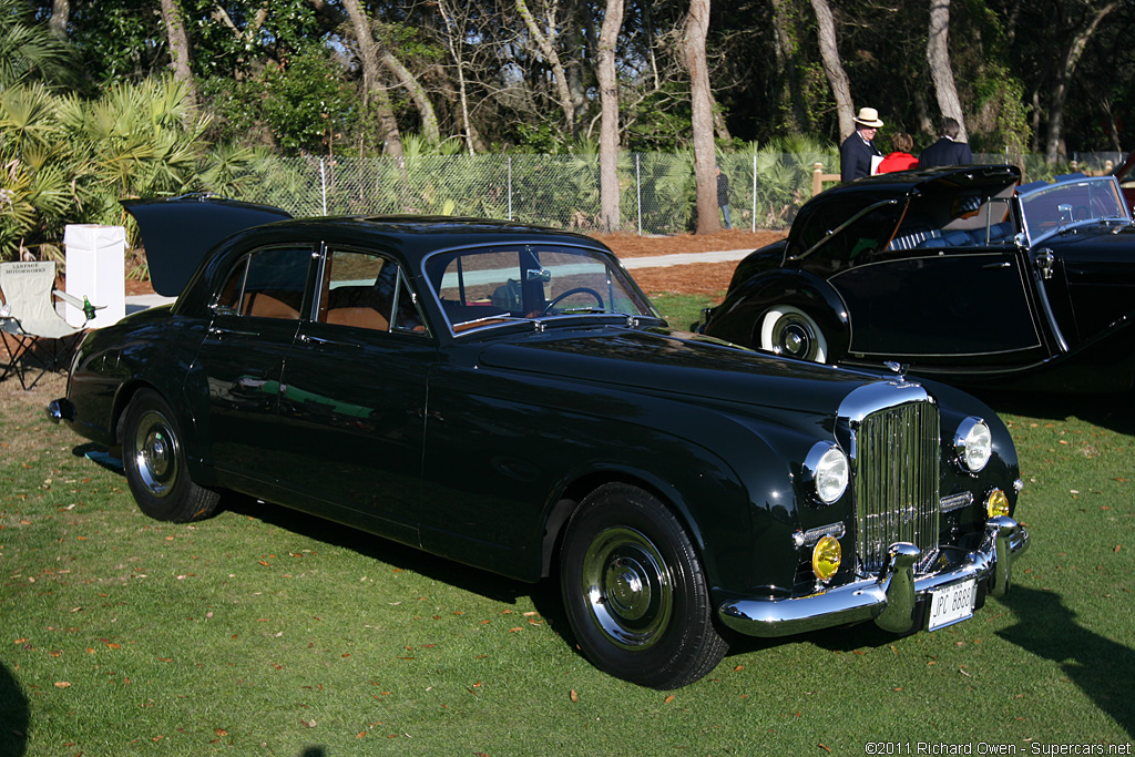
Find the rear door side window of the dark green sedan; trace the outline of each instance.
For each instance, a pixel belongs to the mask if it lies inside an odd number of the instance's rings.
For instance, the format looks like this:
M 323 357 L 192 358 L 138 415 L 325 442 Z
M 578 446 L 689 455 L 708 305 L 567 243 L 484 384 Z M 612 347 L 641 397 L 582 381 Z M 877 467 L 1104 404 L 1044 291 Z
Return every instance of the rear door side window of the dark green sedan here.
M 269 247 L 242 258 L 221 289 L 218 311 L 299 320 L 311 260 L 305 247 Z

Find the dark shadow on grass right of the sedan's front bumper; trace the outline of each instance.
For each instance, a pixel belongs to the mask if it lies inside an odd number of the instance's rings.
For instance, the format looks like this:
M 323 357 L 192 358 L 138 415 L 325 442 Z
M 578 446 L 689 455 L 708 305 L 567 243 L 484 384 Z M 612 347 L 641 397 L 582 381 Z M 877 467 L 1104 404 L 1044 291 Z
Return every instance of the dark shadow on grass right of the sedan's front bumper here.
M 1135 737 L 1135 703 L 1130 698 L 1135 650 L 1079 625 L 1076 614 L 1052 591 L 1015 586 L 1000 602 L 1022 622 L 998 631 L 998 636 L 1057 663 L 1069 682 Z

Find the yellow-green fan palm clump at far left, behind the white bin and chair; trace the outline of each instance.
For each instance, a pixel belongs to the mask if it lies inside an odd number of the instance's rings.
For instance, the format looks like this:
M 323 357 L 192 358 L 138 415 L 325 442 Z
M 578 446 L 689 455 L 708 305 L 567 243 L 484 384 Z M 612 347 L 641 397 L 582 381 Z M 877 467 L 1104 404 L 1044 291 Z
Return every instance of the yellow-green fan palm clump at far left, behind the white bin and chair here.
M 0 91 L 0 254 L 36 245 L 53 254 L 67 222 L 133 232 L 118 204 L 125 197 L 238 194 L 255 153 L 210 151 L 208 119 L 192 118 L 185 102 L 170 77 L 117 84 L 95 101 L 41 84 Z

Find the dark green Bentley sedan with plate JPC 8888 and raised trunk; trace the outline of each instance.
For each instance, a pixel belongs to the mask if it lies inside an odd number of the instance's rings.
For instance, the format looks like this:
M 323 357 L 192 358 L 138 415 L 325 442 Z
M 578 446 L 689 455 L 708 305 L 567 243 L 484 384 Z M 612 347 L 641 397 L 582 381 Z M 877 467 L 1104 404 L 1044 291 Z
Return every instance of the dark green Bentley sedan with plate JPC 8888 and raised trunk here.
M 730 633 L 934 630 L 1009 586 L 1012 440 L 956 389 L 674 331 L 602 244 L 452 218 L 133 204 L 170 306 L 91 333 L 49 414 L 141 508 L 232 490 L 558 575 L 586 655 L 655 688 Z M 380 609 L 376 608 L 376 612 Z

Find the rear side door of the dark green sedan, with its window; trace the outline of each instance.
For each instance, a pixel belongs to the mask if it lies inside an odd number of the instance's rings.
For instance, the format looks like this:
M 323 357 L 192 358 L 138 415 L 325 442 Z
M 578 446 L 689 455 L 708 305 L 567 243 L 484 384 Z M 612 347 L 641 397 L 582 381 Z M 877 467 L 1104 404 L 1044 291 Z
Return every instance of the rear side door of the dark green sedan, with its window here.
M 205 438 L 222 482 L 238 490 L 244 480 L 271 483 L 279 474 L 277 395 L 312 252 L 310 245 L 279 245 L 241 256 L 197 353 L 197 375 L 208 382 Z

